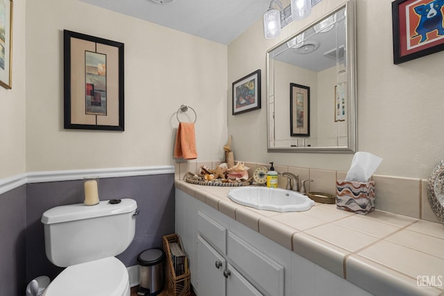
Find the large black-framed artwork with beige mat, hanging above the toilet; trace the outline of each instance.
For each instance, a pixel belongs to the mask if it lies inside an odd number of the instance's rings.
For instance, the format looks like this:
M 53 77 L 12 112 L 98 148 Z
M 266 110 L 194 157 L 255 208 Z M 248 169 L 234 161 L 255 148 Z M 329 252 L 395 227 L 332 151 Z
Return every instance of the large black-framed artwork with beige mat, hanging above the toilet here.
M 65 30 L 64 51 L 65 128 L 123 131 L 123 43 Z

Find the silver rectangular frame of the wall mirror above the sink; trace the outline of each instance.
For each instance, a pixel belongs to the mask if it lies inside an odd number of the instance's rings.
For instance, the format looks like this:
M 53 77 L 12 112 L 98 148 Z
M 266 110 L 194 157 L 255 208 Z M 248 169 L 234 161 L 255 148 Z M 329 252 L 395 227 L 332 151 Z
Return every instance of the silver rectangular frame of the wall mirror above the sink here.
M 318 24 L 323 19 L 332 15 L 335 12 L 345 8 L 345 12 L 347 13 L 346 19 L 346 59 L 347 59 L 347 96 L 348 96 L 348 123 L 347 123 L 347 132 L 348 132 L 348 145 L 347 146 L 318 146 L 318 147 L 271 147 L 271 128 L 274 128 L 274 120 L 273 125 L 271 124 L 271 119 L 274 119 L 274 107 L 271 110 L 271 103 L 274 103 L 274 72 L 273 66 L 271 62 L 273 59 L 270 58 L 271 52 L 274 49 L 277 49 L 279 46 L 288 42 L 289 40 L 295 38 L 300 33 L 306 31 L 307 29 L 313 27 L 315 24 Z M 291 37 L 286 40 L 276 44 L 271 49 L 268 49 L 266 52 L 266 69 L 267 69 L 267 150 L 268 152 L 289 152 L 289 153 L 355 153 L 357 151 L 357 57 L 356 57 L 356 11 L 355 11 L 355 0 L 348 0 L 345 3 L 341 4 L 339 8 L 336 8 L 329 12 L 327 15 L 321 17 L 321 19 L 317 19 L 313 23 L 309 24 L 302 30 L 296 32 L 296 34 L 291 35 Z M 273 132 L 274 134 L 274 132 Z M 296 138 L 295 138 L 296 139 Z

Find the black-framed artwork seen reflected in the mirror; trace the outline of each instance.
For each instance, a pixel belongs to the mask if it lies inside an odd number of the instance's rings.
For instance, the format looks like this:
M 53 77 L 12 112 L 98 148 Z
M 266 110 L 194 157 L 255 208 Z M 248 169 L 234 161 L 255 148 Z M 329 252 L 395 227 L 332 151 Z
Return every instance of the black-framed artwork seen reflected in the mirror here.
M 310 136 L 310 87 L 290 83 L 290 136 Z

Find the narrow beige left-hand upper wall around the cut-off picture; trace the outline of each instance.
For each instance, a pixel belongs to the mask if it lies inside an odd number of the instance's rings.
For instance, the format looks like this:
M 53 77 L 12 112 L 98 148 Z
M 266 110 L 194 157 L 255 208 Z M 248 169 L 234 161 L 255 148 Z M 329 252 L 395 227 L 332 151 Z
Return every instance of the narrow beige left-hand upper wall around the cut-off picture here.
M 0 87 L 0 179 L 26 171 L 25 1 L 14 1 L 12 89 Z

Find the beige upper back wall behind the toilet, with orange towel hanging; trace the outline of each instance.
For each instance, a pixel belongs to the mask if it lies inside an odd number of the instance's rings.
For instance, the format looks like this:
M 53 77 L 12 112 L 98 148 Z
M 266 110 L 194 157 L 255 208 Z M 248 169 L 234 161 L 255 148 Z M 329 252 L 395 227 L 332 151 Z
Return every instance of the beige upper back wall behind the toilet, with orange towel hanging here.
M 227 46 L 76 0 L 26 6 L 26 171 L 171 165 L 181 104 L 198 159 L 223 157 Z M 63 29 L 125 44 L 125 132 L 63 129 Z

